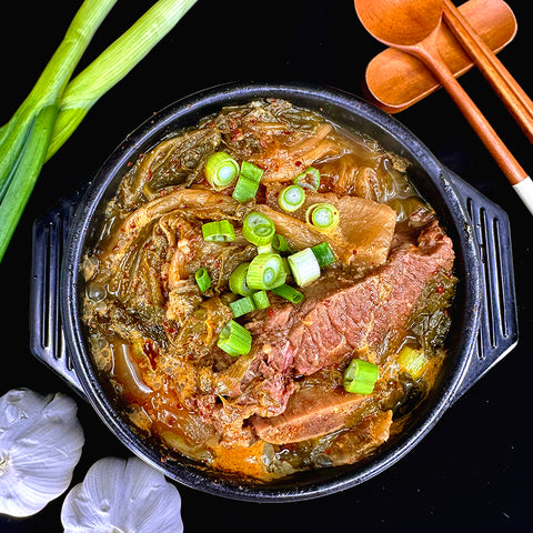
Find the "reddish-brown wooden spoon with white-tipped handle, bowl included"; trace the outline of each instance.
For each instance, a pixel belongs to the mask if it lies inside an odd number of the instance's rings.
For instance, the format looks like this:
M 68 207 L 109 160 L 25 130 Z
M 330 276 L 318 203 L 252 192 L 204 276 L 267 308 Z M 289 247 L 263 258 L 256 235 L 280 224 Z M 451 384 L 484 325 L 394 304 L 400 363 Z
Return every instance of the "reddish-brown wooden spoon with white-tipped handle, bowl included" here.
M 533 214 L 533 181 L 442 60 L 438 34 L 442 0 L 354 0 L 366 31 L 382 43 L 420 59 L 453 101 Z

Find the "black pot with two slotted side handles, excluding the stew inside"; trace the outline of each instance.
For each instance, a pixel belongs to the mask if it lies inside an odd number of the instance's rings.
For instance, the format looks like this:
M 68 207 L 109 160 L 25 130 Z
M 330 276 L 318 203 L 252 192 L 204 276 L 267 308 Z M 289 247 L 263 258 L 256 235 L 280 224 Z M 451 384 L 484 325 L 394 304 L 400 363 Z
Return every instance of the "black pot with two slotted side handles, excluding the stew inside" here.
M 249 482 L 185 457 L 161 461 L 155 446 L 124 420 L 100 381 L 80 320 L 84 282 L 80 262 L 98 237 L 100 213 L 129 162 L 163 137 L 223 105 L 257 98 L 286 99 L 376 139 L 411 161 L 410 177 L 440 215 L 456 250 L 460 280 L 447 339 L 449 359 L 409 425 L 371 460 L 304 472 L 272 484 Z M 36 221 L 31 333 L 33 353 L 59 372 L 94 408 L 111 431 L 170 479 L 212 494 L 259 502 L 322 496 L 385 470 L 431 430 L 446 409 L 517 341 L 510 230 L 506 214 L 444 168 L 404 127 L 373 105 L 331 88 L 304 84 L 231 84 L 178 101 L 144 122 L 111 154 L 84 197 L 56 205 Z

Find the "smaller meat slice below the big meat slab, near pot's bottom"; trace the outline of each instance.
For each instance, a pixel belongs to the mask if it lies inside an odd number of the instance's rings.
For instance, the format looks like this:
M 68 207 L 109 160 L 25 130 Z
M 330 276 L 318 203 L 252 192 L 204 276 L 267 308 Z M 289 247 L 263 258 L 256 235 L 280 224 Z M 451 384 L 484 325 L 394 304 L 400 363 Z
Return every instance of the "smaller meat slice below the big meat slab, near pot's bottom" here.
M 252 425 L 265 442 L 283 444 L 313 439 L 343 428 L 350 414 L 366 396 L 350 394 L 343 389 L 315 386 L 291 395 L 285 411 L 278 416 L 253 416 Z

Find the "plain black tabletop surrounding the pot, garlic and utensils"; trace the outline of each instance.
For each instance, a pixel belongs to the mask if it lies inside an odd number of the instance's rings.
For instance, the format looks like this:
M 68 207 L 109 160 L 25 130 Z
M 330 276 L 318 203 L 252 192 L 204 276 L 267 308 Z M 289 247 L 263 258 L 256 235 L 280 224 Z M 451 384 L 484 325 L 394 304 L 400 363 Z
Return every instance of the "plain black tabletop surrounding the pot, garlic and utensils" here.
M 118 2 L 80 68 L 152 2 Z M 530 2 L 509 1 L 519 31 L 500 58 L 533 94 Z M 6 122 L 59 44 L 80 2 L 2 4 L 0 120 Z M 91 179 L 120 141 L 144 119 L 193 91 L 229 81 L 310 81 L 362 95 L 369 60 L 383 47 L 360 24 L 350 0 L 199 0 L 175 29 L 90 111 L 44 167 L 0 264 L 0 393 L 29 386 L 69 389 L 29 350 L 31 224 L 58 198 Z M 461 83 L 524 168 L 529 141 L 476 71 Z M 396 118 L 433 153 L 510 215 L 520 341 L 495 369 L 450 409 L 425 439 L 376 477 L 319 500 L 284 504 L 230 501 L 180 486 L 185 531 L 531 531 L 533 496 L 533 218 L 450 98 L 438 91 Z M 72 485 L 103 456 L 129 456 L 81 400 L 86 445 Z M 3 532 L 60 532 L 63 496 L 29 519 L 0 516 Z

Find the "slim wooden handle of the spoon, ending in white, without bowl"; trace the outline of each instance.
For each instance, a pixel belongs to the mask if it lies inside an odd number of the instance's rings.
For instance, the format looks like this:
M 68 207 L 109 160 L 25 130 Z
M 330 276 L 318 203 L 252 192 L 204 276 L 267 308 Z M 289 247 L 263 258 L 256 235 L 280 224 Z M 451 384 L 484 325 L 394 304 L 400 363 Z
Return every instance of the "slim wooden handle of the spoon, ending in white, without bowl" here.
M 475 105 L 466 91 L 453 77 L 452 72 L 442 60 L 434 42 L 431 39 L 426 39 L 416 46 L 410 47 L 409 51 L 419 57 L 419 59 L 425 63 L 435 78 L 441 82 L 444 89 L 446 89 L 452 100 L 513 185 L 514 191 L 533 214 L 533 181 L 516 161 L 502 139 L 500 139 L 477 105 Z

